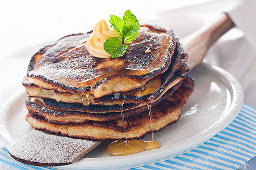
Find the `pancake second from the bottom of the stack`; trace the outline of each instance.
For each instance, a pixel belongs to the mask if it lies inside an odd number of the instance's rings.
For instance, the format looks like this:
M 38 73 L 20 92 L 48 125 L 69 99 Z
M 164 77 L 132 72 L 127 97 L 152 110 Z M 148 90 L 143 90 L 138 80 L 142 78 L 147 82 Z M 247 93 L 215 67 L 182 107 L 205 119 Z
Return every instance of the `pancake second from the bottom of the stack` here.
M 172 87 L 170 90 L 168 90 L 159 100 L 152 103 L 152 107 L 155 107 L 158 105 L 162 100 L 167 99 L 170 97 L 182 84 L 182 81 L 179 82 L 177 85 Z M 52 100 L 54 102 L 54 100 Z M 66 104 L 64 107 L 67 108 Z M 66 111 L 61 110 L 60 107 L 57 106 L 57 108 L 49 108 L 48 105 L 45 105 L 40 100 L 37 100 L 34 97 L 28 97 L 26 100 L 26 107 L 29 112 L 33 114 L 38 114 L 41 117 L 44 117 L 45 120 L 57 123 L 57 124 L 81 124 L 83 122 L 88 121 L 112 121 L 121 119 L 120 114 L 120 105 L 113 105 L 113 106 L 104 106 L 104 105 L 89 105 L 90 111 L 93 111 L 94 113 L 90 112 L 79 112 L 79 111 L 73 111 L 77 108 L 88 108 L 84 107 L 83 105 L 71 105 L 69 109 Z M 105 108 L 107 107 L 107 108 Z M 141 107 L 137 107 L 135 109 L 127 109 L 130 108 L 131 104 L 124 104 L 124 118 L 128 118 L 131 116 L 135 116 L 137 114 L 140 114 L 142 112 L 148 111 L 148 106 L 143 105 Z M 108 111 L 105 113 L 102 113 L 102 111 Z M 115 111 L 115 112 L 114 112 Z

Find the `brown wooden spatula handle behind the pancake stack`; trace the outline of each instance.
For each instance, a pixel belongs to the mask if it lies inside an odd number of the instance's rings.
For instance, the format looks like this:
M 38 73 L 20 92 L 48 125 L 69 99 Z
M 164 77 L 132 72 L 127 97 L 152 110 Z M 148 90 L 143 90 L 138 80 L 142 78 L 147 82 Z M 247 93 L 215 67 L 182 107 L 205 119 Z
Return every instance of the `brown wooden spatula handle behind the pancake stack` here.
M 184 48 L 188 51 L 190 70 L 198 66 L 208 49 L 221 37 L 234 27 L 234 23 L 227 14 L 223 14 L 217 22 L 203 27 L 182 39 Z

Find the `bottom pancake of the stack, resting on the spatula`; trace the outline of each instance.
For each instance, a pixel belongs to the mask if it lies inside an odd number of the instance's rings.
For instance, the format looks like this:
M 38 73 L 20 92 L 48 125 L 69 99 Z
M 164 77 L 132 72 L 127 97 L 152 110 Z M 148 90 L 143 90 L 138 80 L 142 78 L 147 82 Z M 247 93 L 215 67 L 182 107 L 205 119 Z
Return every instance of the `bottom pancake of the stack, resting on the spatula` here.
M 173 95 L 161 101 L 152 108 L 153 131 L 160 131 L 167 125 L 178 121 L 181 109 L 188 97 L 194 91 L 194 81 L 187 77 L 182 86 Z M 29 112 L 26 116 L 28 123 L 35 129 L 47 130 L 74 138 L 93 140 L 120 140 L 124 138 L 121 119 L 116 121 L 90 121 L 83 124 L 53 124 L 38 114 Z M 148 112 L 143 112 L 125 119 L 127 139 L 140 139 L 151 132 Z

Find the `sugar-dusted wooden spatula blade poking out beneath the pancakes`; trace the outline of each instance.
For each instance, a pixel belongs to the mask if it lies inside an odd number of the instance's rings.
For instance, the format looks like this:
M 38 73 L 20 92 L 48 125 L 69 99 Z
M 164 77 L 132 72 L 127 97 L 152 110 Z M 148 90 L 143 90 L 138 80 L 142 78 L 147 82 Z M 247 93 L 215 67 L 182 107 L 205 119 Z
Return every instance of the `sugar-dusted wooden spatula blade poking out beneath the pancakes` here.
M 8 148 L 8 151 L 28 164 L 61 165 L 75 162 L 99 143 L 32 130 Z

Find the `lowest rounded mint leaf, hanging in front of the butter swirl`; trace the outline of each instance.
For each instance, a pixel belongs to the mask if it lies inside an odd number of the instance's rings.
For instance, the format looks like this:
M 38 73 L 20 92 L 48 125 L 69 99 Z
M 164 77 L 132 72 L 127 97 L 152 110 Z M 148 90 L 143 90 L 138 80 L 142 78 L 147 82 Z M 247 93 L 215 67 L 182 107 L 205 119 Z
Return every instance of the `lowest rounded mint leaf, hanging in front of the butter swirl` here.
M 112 58 L 124 56 L 124 53 L 129 48 L 128 44 L 121 44 L 117 37 L 110 37 L 104 42 L 104 50 L 110 54 Z

